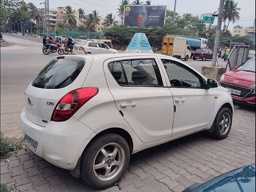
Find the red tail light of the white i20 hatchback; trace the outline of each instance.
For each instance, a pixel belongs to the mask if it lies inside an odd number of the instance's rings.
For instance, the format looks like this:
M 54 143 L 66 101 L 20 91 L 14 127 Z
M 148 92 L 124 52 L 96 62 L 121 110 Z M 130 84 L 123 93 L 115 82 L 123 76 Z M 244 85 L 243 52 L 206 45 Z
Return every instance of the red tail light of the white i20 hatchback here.
M 98 94 L 98 88 L 80 88 L 73 90 L 60 99 L 52 113 L 52 121 L 66 121 L 86 102 Z

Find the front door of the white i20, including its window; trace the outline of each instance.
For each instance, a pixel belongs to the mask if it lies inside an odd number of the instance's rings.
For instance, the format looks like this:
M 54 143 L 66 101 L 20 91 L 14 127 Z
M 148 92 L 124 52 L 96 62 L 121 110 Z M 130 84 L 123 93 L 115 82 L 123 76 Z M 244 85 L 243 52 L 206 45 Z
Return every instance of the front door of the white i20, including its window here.
M 159 57 L 176 108 L 172 136 L 204 128 L 212 120 L 214 95 L 205 89 L 200 74 L 186 64 L 170 58 Z

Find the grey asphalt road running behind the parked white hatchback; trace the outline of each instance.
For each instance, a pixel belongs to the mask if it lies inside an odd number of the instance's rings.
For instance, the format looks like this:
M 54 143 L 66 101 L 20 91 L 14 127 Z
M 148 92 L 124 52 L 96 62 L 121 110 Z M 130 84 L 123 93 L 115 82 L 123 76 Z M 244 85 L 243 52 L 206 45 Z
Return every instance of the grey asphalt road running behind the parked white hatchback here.
M 1 130 L 10 137 L 20 137 L 20 112 L 24 106 L 24 91 L 42 68 L 58 54 L 44 55 L 42 44 L 11 36 L 4 36 L 15 46 L 1 47 Z M 120 51 L 124 52 L 124 51 Z M 226 66 L 226 62 L 219 64 Z M 198 71 L 210 66 L 211 61 L 192 60 L 186 62 Z

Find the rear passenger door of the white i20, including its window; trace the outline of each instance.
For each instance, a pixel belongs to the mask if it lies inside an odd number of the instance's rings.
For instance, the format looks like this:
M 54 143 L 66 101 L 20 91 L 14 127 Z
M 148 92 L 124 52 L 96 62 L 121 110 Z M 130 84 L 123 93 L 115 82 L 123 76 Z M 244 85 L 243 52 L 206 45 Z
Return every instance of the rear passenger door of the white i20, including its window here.
M 156 57 L 109 59 L 104 73 L 117 110 L 142 142 L 172 136 L 172 94 Z

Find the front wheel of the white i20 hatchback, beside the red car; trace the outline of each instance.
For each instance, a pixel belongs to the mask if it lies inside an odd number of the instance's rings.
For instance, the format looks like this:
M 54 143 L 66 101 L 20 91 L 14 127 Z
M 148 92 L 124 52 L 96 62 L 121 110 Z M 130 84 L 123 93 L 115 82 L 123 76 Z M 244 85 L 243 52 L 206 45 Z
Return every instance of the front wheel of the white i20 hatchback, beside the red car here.
M 228 136 L 232 126 L 232 112 L 229 108 L 222 107 L 214 120 L 212 136 L 216 139 L 224 139 Z

